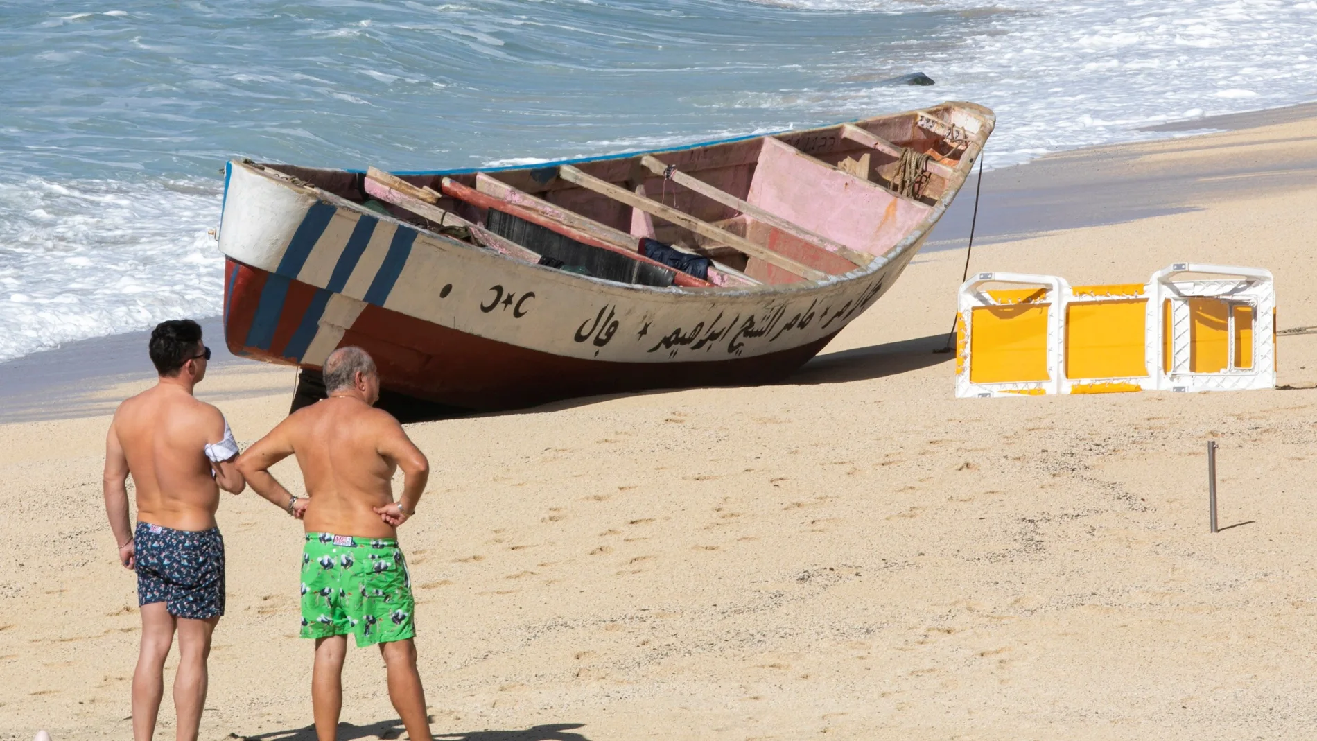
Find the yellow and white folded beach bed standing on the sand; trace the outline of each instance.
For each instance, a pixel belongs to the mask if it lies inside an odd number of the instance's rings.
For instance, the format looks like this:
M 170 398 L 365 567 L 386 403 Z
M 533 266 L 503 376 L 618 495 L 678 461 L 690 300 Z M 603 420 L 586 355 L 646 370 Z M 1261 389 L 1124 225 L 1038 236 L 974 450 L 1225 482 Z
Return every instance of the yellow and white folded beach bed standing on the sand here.
M 1267 270 L 1175 263 L 1112 286 L 980 272 L 959 304 L 956 396 L 1276 386 Z

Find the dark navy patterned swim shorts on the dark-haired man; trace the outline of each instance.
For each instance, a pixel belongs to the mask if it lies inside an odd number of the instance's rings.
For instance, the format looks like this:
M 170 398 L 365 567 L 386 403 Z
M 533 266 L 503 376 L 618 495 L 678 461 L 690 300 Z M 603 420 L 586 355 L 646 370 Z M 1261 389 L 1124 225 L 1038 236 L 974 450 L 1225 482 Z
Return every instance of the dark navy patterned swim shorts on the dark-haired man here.
M 175 530 L 138 523 L 137 604 L 165 603 L 174 617 L 224 615 L 224 538 L 219 528 Z

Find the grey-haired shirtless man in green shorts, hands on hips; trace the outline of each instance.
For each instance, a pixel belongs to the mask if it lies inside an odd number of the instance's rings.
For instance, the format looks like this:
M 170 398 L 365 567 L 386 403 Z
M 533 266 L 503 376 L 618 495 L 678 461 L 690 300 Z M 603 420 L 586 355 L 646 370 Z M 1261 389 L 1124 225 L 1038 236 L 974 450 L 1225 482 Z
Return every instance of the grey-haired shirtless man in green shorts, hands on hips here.
M 389 699 L 412 741 L 431 741 L 425 692 L 412 638 L 415 600 L 398 525 L 416 512 L 429 476 L 425 455 L 387 412 L 375 409 L 379 374 L 360 347 L 340 347 L 324 365 L 328 399 L 298 409 L 238 458 L 257 494 L 306 528 L 302 551 L 302 637 L 315 638 L 311 704 L 320 741 L 335 741 L 342 709 L 348 633 L 358 648 L 379 645 Z M 270 475 L 298 457 L 307 496 L 288 494 Z M 403 470 L 394 501 L 391 479 Z

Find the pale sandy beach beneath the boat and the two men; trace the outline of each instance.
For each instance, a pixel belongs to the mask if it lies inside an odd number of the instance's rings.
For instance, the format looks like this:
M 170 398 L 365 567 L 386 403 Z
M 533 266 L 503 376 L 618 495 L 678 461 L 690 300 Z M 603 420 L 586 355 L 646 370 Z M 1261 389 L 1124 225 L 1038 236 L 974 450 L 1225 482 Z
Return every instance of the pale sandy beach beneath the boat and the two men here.
M 1317 118 L 1275 116 L 989 172 L 971 270 L 1081 284 L 1259 266 L 1280 328 L 1317 325 Z M 973 195 L 971 180 L 890 294 L 786 383 L 408 425 L 433 469 L 400 540 L 439 738 L 1233 740 L 1317 724 L 1317 334 L 1279 340 L 1275 391 L 957 400 L 954 358 L 932 350 Z M 151 379 L 111 380 L 33 382 L 26 421 L 0 424 L 3 740 L 132 736 L 136 584 L 100 470 L 108 412 Z M 291 384 L 234 361 L 199 395 L 250 444 Z M 287 462 L 277 474 L 299 482 Z M 224 495 L 219 520 L 228 612 L 202 737 L 308 741 L 299 524 L 250 491 Z M 341 738 L 399 737 L 383 677 L 378 652 L 349 653 Z M 166 692 L 161 737 L 173 713 Z

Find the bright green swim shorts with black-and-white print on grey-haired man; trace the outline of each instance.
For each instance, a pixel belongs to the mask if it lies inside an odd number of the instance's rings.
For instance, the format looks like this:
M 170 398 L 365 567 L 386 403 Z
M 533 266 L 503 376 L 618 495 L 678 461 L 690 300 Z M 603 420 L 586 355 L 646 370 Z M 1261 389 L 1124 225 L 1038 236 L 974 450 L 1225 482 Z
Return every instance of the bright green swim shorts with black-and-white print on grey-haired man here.
M 416 600 L 394 538 L 307 533 L 302 549 L 302 637 L 352 634 L 357 646 L 416 636 Z

